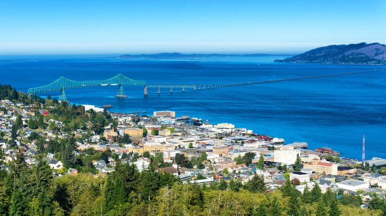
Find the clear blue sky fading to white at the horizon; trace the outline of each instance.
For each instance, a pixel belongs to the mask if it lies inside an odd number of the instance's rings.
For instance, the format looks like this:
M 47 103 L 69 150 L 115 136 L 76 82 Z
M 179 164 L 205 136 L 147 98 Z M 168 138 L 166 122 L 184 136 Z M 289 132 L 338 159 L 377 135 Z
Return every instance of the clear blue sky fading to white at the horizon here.
M 0 54 L 299 53 L 386 43 L 385 0 L 2 0 Z

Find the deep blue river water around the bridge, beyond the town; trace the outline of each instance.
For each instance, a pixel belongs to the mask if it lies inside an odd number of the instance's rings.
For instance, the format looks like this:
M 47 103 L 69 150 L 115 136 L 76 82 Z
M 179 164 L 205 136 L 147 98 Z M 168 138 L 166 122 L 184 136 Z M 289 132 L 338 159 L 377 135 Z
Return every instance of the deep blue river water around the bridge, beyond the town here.
M 59 76 L 107 79 L 117 73 L 146 83 L 229 84 L 310 75 L 386 69 L 385 66 L 273 63 L 278 57 L 205 59 L 117 59 L 100 56 L 12 56 L 35 60 L 0 63 L 0 83 L 18 91 L 46 85 Z M 112 111 L 174 110 L 210 123 L 228 122 L 257 134 L 329 146 L 360 159 L 386 158 L 386 72 L 196 90 L 124 86 L 128 98 L 114 98 L 117 86 L 66 89 L 75 104 L 113 105 Z M 59 91 L 41 93 L 58 97 Z

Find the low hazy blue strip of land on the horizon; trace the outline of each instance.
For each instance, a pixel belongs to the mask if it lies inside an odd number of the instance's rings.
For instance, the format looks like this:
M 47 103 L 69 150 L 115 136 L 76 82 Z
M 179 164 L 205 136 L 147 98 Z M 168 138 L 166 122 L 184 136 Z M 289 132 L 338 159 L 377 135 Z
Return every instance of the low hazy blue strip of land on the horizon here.
M 118 58 L 152 58 L 152 59 L 163 59 L 163 58 L 207 58 L 207 57 L 262 57 L 262 56 L 288 56 L 288 55 L 273 55 L 273 54 L 181 54 L 178 52 L 174 53 L 158 53 L 158 54 L 141 54 L 141 55 L 121 55 Z

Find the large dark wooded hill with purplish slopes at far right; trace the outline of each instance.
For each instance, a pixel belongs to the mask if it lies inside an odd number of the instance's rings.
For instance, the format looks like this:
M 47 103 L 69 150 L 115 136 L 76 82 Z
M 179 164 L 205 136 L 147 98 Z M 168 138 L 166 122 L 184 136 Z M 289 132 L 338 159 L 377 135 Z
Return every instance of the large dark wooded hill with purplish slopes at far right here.
M 386 65 L 386 46 L 380 43 L 330 45 L 275 62 Z

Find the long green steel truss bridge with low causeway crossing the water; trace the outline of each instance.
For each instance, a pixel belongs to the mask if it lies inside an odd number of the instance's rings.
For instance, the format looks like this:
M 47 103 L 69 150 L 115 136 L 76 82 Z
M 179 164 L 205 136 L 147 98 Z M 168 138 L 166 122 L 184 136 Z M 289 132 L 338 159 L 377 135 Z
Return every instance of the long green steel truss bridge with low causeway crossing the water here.
M 295 77 L 295 78 L 287 78 L 287 79 L 275 79 L 275 80 L 244 82 L 244 83 L 235 83 L 235 84 L 221 84 L 221 85 L 219 84 L 146 84 L 145 80 L 133 80 L 124 76 L 122 73 L 119 73 L 116 76 L 109 79 L 93 80 L 93 81 L 73 81 L 61 76 L 55 81 L 49 83 L 48 85 L 28 89 L 27 94 L 36 94 L 36 93 L 60 90 L 59 101 L 67 101 L 66 94 L 64 93 L 64 89 L 78 88 L 78 87 L 85 87 L 85 86 L 116 85 L 118 87 L 118 93 L 117 95 L 115 95 L 115 97 L 127 97 L 124 94 L 123 87 L 122 87 L 123 85 L 143 85 L 144 94 L 147 95 L 147 88 L 158 88 L 158 94 L 159 94 L 161 93 L 160 88 L 162 87 L 170 88 L 170 92 L 173 92 L 173 87 L 182 88 L 182 91 L 185 91 L 185 88 L 193 88 L 193 90 L 201 89 L 201 88 L 202 89 L 221 88 L 221 87 L 230 87 L 230 86 L 253 85 L 253 84 L 268 83 L 268 82 L 281 82 L 281 81 L 290 81 L 290 80 L 298 80 L 298 79 L 309 79 L 309 78 L 348 75 L 348 74 L 366 73 L 366 72 L 380 72 L 380 71 L 386 71 L 386 69 L 374 70 L 374 71 L 362 71 L 362 72 L 335 73 L 335 74 L 316 75 L 316 76 L 303 76 L 303 77 Z

